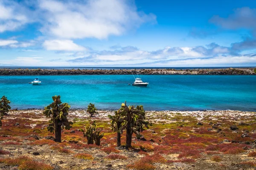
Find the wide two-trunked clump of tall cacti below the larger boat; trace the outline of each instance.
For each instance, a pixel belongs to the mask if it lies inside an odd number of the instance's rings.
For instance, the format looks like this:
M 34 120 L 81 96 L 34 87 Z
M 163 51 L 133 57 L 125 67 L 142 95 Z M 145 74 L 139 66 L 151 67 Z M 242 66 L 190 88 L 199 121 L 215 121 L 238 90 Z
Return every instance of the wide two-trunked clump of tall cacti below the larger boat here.
M 143 105 L 138 105 L 136 108 L 134 106 L 127 106 L 126 101 L 122 103 L 121 108 L 118 111 L 115 111 L 115 115 L 108 116 L 111 120 L 112 129 L 117 131 L 120 134 L 123 133 L 123 130 L 126 129 L 126 147 L 131 147 L 131 138 L 132 134 L 135 133 L 137 138 L 140 138 L 142 135 L 140 132 L 143 131 L 144 127 L 148 127 L 150 124 L 148 121 L 145 121 L 145 112 Z M 118 122 L 120 124 L 118 125 Z

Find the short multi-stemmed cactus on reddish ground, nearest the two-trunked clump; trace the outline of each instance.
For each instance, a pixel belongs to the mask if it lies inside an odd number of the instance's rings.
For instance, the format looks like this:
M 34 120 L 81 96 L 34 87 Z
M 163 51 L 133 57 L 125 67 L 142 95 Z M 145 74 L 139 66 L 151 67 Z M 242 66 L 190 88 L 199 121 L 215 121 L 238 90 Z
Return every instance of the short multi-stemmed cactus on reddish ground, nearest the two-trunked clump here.
M 93 125 L 84 127 L 85 129 L 80 128 L 79 130 L 84 134 L 84 137 L 87 138 L 87 144 L 93 144 L 93 140 L 96 145 L 100 145 L 100 139 L 103 138 L 104 133 L 99 134 L 101 130 L 97 130 L 97 124 L 93 121 Z

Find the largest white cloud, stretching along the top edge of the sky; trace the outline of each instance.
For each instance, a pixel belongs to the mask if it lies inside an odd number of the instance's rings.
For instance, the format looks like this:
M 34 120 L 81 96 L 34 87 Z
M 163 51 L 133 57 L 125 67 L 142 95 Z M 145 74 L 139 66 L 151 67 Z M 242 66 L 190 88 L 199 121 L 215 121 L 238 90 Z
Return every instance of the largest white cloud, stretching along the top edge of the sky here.
M 47 24 L 41 31 L 55 37 L 105 39 L 109 35 L 121 35 L 127 29 L 137 28 L 142 23 L 155 21 L 153 14 L 138 12 L 128 0 L 88 0 L 63 2 L 39 1 L 45 12 Z

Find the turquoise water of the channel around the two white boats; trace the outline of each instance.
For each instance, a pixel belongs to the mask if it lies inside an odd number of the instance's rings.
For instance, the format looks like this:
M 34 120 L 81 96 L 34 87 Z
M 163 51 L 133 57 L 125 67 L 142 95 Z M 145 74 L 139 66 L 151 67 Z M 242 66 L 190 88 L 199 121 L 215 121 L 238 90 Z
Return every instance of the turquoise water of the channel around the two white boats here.
M 71 108 L 118 109 L 122 102 L 144 105 L 146 110 L 256 111 L 256 76 L 141 75 L 147 88 L 128 85 L 132 75 L 0 76 L 0 96 L 12 108 L 43 108 L 61 95 Z

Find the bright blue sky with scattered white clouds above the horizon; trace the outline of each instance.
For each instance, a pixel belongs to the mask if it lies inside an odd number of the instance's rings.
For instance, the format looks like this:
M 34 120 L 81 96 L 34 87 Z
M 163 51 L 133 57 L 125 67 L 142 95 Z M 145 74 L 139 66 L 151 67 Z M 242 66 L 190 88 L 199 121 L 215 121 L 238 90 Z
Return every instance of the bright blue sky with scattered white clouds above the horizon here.
M 0 66 L 256 66 L 256 1 L 0 0 Z

